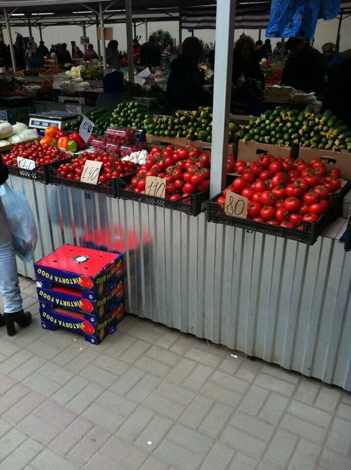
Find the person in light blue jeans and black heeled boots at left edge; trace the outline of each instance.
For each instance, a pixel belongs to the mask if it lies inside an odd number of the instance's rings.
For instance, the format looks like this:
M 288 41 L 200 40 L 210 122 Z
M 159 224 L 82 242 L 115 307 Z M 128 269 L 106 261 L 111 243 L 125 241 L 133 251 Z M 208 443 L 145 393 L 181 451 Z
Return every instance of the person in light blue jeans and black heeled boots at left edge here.
M 7 178 L 7 167 L 0 160 L 0 196 L 1 185 Z M 1 197 L 0 227 L 0 294 L 4 303 L 4 314 L 3 316 L 0 314 L 0 326 L 6 325 L 7 334 L 14 336 L 16 334 L 15 322 L 25 328 L 32 322 L 32 316 L 30 312 L 23 312 L 15 248 Z

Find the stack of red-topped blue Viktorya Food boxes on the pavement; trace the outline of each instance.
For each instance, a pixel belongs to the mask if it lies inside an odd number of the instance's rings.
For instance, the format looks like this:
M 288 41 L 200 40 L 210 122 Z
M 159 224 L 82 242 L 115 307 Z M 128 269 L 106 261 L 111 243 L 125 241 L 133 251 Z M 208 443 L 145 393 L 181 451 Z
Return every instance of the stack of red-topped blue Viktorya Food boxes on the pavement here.
M 123 318 L 121 254 L 63 245 L 34 265 L 45 329 L 84 333 L 99 344 Z

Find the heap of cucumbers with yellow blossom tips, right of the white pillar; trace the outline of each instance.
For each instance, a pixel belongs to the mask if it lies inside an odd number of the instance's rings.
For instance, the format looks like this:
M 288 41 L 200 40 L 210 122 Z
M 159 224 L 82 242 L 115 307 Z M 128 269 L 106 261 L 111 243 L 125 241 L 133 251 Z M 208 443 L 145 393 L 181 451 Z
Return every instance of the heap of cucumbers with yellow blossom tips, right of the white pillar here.
M 313 114 L 313 106 L 304 111 L 288 110 L 277 107 L 266 111 L 258 119 L 252 119 L 247 125 L 240 125 L 234 135 L 244 141 L 255 140 L 282 147 L 325 148 L 332 151 L 347 149 L 351 151 L 351 131 L 331 111 Z

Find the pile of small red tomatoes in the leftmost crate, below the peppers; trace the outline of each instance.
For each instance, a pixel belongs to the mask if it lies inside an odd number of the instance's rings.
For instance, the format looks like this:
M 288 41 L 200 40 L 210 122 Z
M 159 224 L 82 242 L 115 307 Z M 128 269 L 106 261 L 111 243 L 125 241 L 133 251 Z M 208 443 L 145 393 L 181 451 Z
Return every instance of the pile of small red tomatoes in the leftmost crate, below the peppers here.
M 40 145 L 38 141 L 27 144 L 15 144 L 9 153 L 2 153 L 1 159 L 5 165 L 17 167 L 17 157 L 28 158 L 35 162 L 36 169 L 69 157 L 66 152 L 50 145 Z

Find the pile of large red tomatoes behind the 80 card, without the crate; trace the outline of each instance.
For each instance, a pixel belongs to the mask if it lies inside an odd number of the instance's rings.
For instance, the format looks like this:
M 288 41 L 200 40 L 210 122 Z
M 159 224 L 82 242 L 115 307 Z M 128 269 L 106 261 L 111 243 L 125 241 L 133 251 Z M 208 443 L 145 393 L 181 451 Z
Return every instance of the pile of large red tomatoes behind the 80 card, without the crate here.
M 223 191 L 217 204 L 224 209 L 226 193 L 232 191 L 248 199 L 247 219 L 287 228 L 316 222 L 332 203 L 330 193 L 341 187 L 340 170 L 327 170 L 320 158 L 306 163 L 265 154 L 250 163 L 238 160 L 235 171 L 241 177 Z

